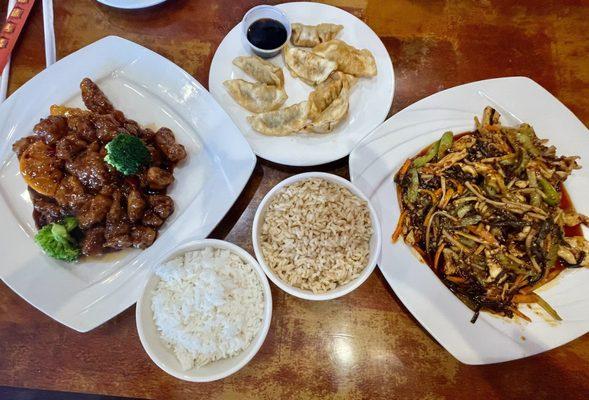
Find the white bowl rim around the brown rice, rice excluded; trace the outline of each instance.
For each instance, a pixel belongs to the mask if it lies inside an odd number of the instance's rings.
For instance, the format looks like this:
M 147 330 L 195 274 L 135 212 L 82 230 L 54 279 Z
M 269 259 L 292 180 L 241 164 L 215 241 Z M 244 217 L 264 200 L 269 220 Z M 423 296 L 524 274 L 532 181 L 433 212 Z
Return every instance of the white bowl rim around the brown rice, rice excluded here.
M 288 186 L 288 185 L 293 184 L 298 181 L 310 179 L 310 178 L 322 178 L 322 179 L 328 180 L 330 182 L 336 183 L 338 185 L 342 185 L 342 186 L 346 187 L 347 189 L 349 189 L 350 192 L 352 192 L 356 196 L 365 200 L 366 203 L 368 204 L 368 210 L 370 212 L 370 220 L 372 221 L 372 229 L 374 231 L 374 233 L 372 235 L 372 239 L 370 240 L 370 257 L 368 259 L 368 264 L 366 265 L 366 268 L 364 268 L 362 273 L 353 281 L 348 282 L 345 285 L 338 286 L 335 289 L 333 289 L 327 293 L 320 293 L 320 294 L 315 294 L 310 290 L 299 289 L 297 287 L 289 285 L 288 283 L 286 283 L 285 281 L 280 279 L 278 277 L 278 275 L 276 275 L 270 269 L 268 264 L 266 264 L 266 261 L 264 260 L 264 256 L 262 254 L 262 248 L 260 246 L 260 230 L 261 230 L 261 226 L 264 222 L 266 207 L 268 206 L 269 201 L 274 197 L 274 194 L 285 186 Z M 290 178 L 287 178 L 287 179 L 283 180 L 282 182 L 280 182 L 278 185 L 274 186 L 272 188 L 272 190 L 270 190 L 266 194 L 266 196 L 264 196 L 264 198 L 262 199 L 262 202 L 258 206 L 258 209 L 256 211 L 256 215 L 254 216 L 254 226 L 252 229 L 252 241 L 254 244 L 254 252 L 256 253 L 256 258 L 258 259 L 258 262 L 260 263 L 262 269 L 264 270 L 264 272 L 266 273 L 268 278 L 270 278 L 270 280 L 272 282 L 274 282 L 276 284 L 276 286 L 278 286 L 279 288 L 281 288 L 285 292 L 287 292 L 293 296 L 300 297 L 301 299 L 306 299 L 306 300 L 335 299 L 337 297 L 341 297 L 343 295 L 350 293 L 352 290 L 354 290 L 358 286 L 360 286 L 366 279 L 368 279 L 368 277 L 370 276 L 370 274 L 374 270 L 374 267 L 376 266 L 376 262 L 378 261 L 378 257 L 380 255 L 381 240 L 382 240 L 382 238 L 381 238 L 380 223 L 378 221 L 378 215 L 376 214 L 376 211 L 374 210 L 374 208 L 372 207 L 372 204 L 370 204 L 370 201 L 364 195 L 364 193 L 362 193 L 360 191 L 360 189 L 358 189 L 356 186 L 354 186 L 354 184 L 352 184 L 352 182 L 350 182 L 342 177 L 339 177 L 337 175 L 327 174 L 324 172 L 307 172 L 304 174 L 291 176 Z

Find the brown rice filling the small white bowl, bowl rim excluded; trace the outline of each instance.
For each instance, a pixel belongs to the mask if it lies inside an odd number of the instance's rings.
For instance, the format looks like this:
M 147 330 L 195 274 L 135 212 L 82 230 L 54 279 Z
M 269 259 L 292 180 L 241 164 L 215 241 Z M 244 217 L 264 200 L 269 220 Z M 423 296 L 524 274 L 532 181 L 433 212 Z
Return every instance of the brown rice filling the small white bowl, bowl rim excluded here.
M 266 264 L 300 289 L 328 292 L 368 265 L 373 233 L 368 205 L 325 179 L 302 180 L 276 192 L 260 231 Z

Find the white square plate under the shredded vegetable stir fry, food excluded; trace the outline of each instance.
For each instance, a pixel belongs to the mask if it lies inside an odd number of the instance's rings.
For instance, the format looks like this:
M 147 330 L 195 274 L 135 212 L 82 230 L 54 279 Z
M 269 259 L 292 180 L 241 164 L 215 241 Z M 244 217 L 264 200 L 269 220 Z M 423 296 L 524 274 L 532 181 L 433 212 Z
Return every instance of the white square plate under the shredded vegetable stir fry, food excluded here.
M 372 132 L 350 154 L 350 176 L 371 199 L 383 238 L 390 238 L 400 210 L 394 173 L 447 130 L 474 129 L 473 118 L 493 106 L 506 125 L 530 123 L 558 154 L 578 155 L 581 170 L 566 187 L 578 211 L 589 212 L 589 131 L 554 96 L 528 78 L 490 79 L 436 93 L 407 107 Z M 489 364 L 553 349 L 589 331 L 589 269 L 566 270 L 539 290 L 563 318 L 548 321 L 538 309 L 525 310 L 531 323 L 473 312 L 455 297 L 409 247 L 383 240 L 379 267 L 415 318 L 459 361 Z M 533 311 L 533 312 L 530 312 Z

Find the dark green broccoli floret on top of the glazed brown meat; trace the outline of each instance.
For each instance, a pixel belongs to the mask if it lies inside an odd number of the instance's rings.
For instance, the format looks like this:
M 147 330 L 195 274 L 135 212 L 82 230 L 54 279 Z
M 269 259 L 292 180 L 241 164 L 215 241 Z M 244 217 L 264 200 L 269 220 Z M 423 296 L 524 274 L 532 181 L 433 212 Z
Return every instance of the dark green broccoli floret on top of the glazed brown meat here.
M 123 175 L 134 175 L 151 162 L 151 154 L 138 137 L 119 133 L 106 145 L 104 161 Z

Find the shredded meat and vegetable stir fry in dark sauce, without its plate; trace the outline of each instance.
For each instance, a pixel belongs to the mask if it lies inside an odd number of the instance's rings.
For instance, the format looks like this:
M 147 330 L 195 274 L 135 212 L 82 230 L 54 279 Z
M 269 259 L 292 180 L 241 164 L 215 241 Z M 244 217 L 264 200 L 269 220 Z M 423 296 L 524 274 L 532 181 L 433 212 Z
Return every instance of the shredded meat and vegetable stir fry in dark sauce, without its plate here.
M 403 237 L 475 313 L 530 321 L 519 304 L 556 311 L 534 291 L 589 266 L 589 244 L 563 183 L 578 157 L 557 156 L 528 124 L 507 127 L 486 107 L 474 132 L 446 132 L 395 175 Z

